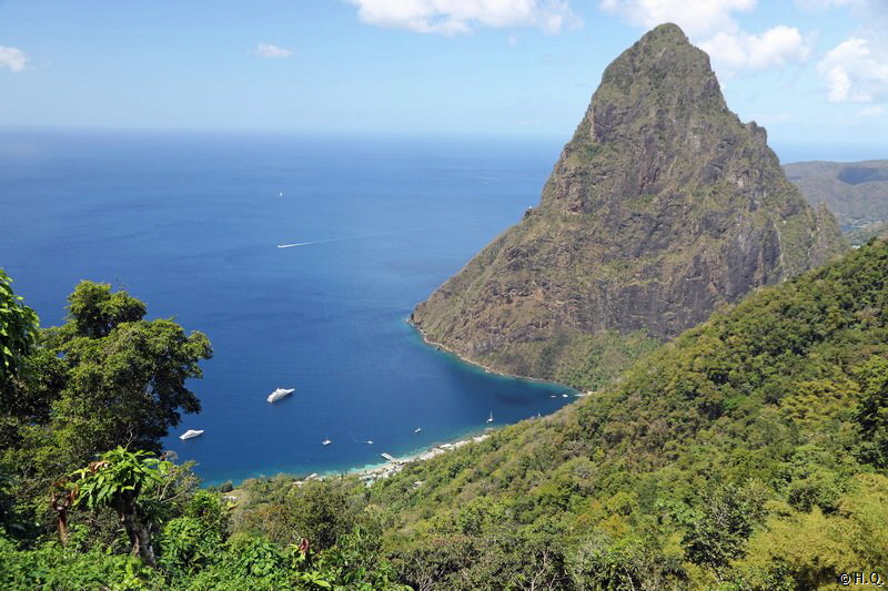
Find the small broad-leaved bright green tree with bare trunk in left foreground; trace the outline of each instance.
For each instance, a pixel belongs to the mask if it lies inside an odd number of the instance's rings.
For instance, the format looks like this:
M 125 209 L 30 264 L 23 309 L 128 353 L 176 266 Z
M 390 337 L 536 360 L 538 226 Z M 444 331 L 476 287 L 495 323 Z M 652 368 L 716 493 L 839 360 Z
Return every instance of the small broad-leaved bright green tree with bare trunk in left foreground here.
M 73 476 L 75 505 L 89 509 L 111 507 L 130 538 L 133 554 L 145 564 L 157 565 L 151 546 L 151 531 L 138 500 L 150 483 L 160 482 L 171 463 L 151 458 L 147 451 L 128 451 L 118 447 L 102 454 L 98 461 L 77 470 Z

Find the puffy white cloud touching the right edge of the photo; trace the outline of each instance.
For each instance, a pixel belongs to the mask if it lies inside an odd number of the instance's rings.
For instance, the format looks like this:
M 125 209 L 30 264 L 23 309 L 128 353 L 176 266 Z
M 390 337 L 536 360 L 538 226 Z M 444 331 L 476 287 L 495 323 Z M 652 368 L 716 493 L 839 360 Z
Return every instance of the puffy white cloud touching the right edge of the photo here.
M 834 48 L 817 64 L 831 103 L 868 103 L 888 96 L 888 51 L 867 39 L 852 37 Z

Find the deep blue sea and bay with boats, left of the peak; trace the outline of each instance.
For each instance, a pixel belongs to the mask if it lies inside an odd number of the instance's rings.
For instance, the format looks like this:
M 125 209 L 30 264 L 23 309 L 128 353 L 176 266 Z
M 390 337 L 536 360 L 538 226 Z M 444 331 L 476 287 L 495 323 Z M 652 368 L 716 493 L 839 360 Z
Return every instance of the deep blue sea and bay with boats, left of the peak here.
M 190 381 L 203 410 L 164 441 L 206 482 L 344 471 L 573 399 L 437 351 L 405 323 L 538 202 L 559 147 L 4 132 L 0 266 L 44 326 L 92 279 L 208 334 L 215 355 Z M 296 391 L 268 404 L 279 386 Z M 205 434 L 181 441 L 185 429 Z

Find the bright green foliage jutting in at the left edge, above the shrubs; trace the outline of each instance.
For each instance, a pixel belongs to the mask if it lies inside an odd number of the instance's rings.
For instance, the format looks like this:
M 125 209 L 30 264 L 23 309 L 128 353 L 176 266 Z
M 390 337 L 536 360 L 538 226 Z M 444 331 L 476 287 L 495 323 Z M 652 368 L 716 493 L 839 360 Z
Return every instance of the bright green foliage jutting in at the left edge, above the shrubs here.
M 39 319 L 34 310 L 22 304 L 9 284 L 12 279 L 0 268 L 0 389 L 22 375 L 24 358 L 37 345 Z

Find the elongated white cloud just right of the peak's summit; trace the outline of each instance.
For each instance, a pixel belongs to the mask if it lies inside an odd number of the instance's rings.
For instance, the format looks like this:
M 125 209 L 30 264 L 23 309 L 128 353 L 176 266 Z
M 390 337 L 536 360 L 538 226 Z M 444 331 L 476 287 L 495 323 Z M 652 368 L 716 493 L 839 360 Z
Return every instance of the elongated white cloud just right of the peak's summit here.
M 798 29 L 783 24 L 761 34 L 719 32 L 699 43 L 699 47 L 709 54 L 716 68 L 725 73 L 804 62 L 811 51 Z

